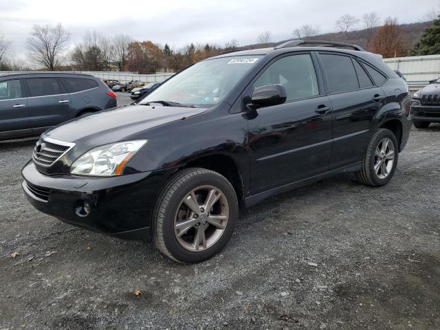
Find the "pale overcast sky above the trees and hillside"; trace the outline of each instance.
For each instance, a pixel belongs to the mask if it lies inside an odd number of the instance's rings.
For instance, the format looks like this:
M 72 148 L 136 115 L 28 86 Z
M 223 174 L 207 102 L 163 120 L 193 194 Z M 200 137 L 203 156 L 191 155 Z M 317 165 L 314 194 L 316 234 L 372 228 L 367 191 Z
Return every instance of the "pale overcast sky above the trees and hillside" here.
M 360 18 L 376 11 L 382 19 L 412 23 L 432 8 L 440 9 L 438 0 L 0 0 L 0 34 L 13 41 L 17 58 L 25 52 L 32 25 L 58 22 L 71 32 L 72 44 L 87 30 L 97 30 L 176 48 L 191 42 L 224 45 L 231 39 L 248 45 L 265 30 L 273 41 L 289 39 L 304 24 L 334 32 L 336 20 L 346 13 Z

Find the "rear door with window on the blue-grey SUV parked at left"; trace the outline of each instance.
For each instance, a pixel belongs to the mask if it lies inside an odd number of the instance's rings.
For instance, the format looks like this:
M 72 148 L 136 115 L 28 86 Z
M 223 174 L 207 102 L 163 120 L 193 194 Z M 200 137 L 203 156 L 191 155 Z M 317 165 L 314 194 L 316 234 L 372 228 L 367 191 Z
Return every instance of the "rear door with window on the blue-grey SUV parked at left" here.
M 70 119 L 70 96 L 57 78 L 26 78 L 32 129 L 36 133 Z

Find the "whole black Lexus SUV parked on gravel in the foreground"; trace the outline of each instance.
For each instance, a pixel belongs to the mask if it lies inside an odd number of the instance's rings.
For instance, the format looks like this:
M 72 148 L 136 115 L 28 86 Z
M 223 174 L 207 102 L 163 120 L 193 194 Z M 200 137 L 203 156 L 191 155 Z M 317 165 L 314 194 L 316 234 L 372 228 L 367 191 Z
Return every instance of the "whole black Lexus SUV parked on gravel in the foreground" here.
M 23 189 L 58 219 L 117 236 L 151 232 L 164 254 L 195 263 L 228 242 L 239 206 L 339 173 L 387 184 L 409 110 L 404 80 L 355 45 L 222 54 L 137 104 L 47 131 Z

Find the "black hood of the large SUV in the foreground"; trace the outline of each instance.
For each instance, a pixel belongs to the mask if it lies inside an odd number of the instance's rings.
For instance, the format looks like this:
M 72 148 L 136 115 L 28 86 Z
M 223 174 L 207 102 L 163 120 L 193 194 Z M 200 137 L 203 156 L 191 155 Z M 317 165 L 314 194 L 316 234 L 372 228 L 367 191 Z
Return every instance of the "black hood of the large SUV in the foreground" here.
M 129 140 L 131 135 L 155 126 L 198 115 L 206 109 L 129 105 L 70 120 L 44 133 L 45 136 L 83 146 L 100 146 Z M 138 134 L 137 134 L 138 136 Z M 148 138 L 148 134 L 143 136 Z M 136 137 L 141 138 L 141 137 Z

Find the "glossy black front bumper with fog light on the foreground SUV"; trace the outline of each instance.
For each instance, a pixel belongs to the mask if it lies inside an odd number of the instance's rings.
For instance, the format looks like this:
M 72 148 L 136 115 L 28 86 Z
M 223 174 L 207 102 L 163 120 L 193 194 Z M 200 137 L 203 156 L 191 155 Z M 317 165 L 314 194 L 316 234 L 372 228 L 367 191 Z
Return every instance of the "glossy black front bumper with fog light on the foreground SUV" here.
M 174 169 L 120 177 L 47 176 L 32 162 L 23 167 L 23 190 L 37 210 L 89 230 L 144 237 L 155 199 Z

